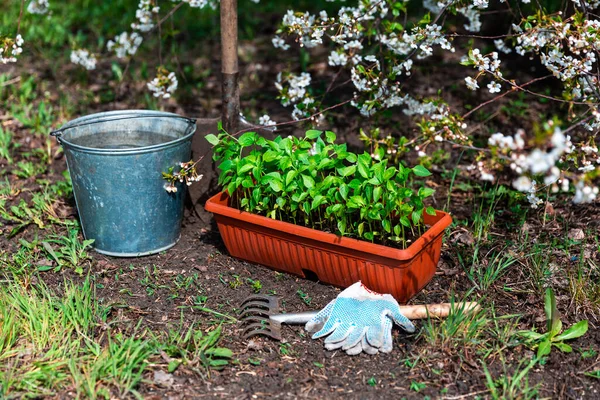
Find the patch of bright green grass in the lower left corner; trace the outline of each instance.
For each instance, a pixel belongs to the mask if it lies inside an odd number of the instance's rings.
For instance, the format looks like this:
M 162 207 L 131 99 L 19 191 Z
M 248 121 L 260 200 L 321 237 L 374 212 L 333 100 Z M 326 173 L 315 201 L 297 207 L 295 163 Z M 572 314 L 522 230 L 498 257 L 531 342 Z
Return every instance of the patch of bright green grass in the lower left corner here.
M 41 282 L 41 281 L 40 281 Z M 6 279 L 0 290 L 0 397 L 140 397 L 136 388 L 151 360 L 165 352 L 169 372 L 183 364 L 205 376 L 233 353 L 218 347 L 220 326 L 198 324 L 154 334 L 140 324 L 122 329 L 109 320 L 92 283 L 62 290 Z

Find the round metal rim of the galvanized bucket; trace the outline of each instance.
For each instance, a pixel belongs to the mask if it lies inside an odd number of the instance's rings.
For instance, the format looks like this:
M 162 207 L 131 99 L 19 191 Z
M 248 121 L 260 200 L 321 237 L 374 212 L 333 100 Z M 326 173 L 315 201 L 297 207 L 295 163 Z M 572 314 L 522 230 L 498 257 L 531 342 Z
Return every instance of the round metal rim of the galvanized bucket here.
M 186 133 L 177 139 L 170 140 L 168 142 L 163 142 L 159 144 L 154 144 L 150 146 L 136 147 L 134 149 L 102 149 L 97 147 L 87 147 L 78 145 L 72 142 L 69 142 L 67 139 L 62 137 L 63 132 L 68 129 L 76 128 L 79 126 L 92 125 L 101 122 L 110 122 L 116 121 L 120 119 L 134 119 L 134 118 L 178 118 L 186 121 L 188 123 L 188 127 L 186 128 Z M 106 118 L 106 119 L 103 119 Z M 55 136 L 56 140 L 63 146 L 69 149 L 92 153 L 92 154 L 105 154 L 105 155 L 131 155 L 131 154 L 141 154 L 141 153 L 149 153 L 156 150 L 162 150 L 165 148 L 169 148 L 175 145 L 178 145 L 182 142 L 186 142 L 191 139 L 191 137 L 196 133 L 196 120 L 194 118 L 188 118 L 179 114 L 164 112 L 164 111 L 154 111 L 154 110 L 114 110 L 114 111 L 105 111 L 94 113 L 90 115 L 85 115 L 79 118 L 75 118 L 71 121 L 66 122 L 59 129 L 52 131 L 50 133 L 51 136 Z

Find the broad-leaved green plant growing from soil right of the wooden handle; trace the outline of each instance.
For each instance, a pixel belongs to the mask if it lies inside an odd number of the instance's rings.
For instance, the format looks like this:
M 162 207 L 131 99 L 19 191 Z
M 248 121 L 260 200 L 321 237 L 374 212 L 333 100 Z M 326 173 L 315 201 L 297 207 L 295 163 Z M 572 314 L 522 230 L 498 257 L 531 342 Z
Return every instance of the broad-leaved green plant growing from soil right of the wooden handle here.
M 562 332 L 562 321 L 556 308 L 556 298 L 552 289 L 546 289 L 544 297 L 544 311 L 546 312 L 546 333 L 535 331 L 520 331 L 518 335 L 525 339 L 525 343 L 532 348 L 537 348 L 537 358 L 547 356 L 553 347 L 563 353 L 570 353 L 573 348 L 565 343 L 567 340 L 576 339 L 585 335 L 588 330 L 588 321 L 582 320 Z M 561 333 L 562 332 L 562 333 Z

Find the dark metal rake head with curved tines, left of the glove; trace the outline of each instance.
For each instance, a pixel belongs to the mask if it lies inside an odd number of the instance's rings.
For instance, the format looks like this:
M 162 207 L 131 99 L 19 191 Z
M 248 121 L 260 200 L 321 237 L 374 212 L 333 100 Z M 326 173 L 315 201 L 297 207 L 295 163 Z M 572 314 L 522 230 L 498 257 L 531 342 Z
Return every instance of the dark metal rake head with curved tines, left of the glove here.
M 275 296 L 257 294 L 247 297 L 242 302 L 240 311 L 240 321 L 244 326 L 242 337 L 249 339 L 264 335 L 281 340 L 281 323 L 270 318 L 279 311 L 279 298 Z

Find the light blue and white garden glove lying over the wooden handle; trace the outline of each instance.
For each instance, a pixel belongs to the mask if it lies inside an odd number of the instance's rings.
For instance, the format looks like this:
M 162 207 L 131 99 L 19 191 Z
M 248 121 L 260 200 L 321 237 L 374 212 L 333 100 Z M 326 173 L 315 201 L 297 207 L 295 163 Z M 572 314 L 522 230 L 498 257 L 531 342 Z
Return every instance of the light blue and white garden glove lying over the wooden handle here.
M 392 351 L 392 325 L 396 322 L 407 332 L 415 327 L 400 312 L 396 299 L 367 289 L 361 282 L 348 287 L 317 313 L 305 329 L 316 332 L 312 338 L 325 339 L 327 350 L 342 349 L 350 355 L 364 351 Z M 320 329 L 320 330 L 319 330 Z

